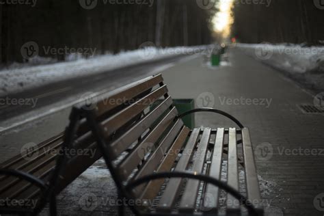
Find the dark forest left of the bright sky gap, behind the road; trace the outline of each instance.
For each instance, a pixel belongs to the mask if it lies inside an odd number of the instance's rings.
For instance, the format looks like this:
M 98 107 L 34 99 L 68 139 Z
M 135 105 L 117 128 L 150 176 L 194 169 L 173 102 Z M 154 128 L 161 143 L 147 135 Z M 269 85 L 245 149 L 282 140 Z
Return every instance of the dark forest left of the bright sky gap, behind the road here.
M 147 41 L 162 47 L 209 44 L 213 13 L 195 0 L 158 0 L 151 7 L 98 0 L 92 10 L 75 0 L 38 0 L 35 7 L 0 4 L 0 64 L 23 62 L 21 46 L 29 41 L 40 47 L 94 48 L 97 54 L 138 49 Z M 39 55 L 65 57 L 42 49 Z

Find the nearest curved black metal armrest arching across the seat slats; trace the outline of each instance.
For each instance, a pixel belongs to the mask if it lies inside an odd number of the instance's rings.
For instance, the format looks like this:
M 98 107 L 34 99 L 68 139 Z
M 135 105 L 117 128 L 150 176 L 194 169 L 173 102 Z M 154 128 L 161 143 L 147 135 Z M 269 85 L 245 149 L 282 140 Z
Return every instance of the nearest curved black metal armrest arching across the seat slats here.
M 234 198 L 237 198 L 237 200 L 241 200 L 242 204 L 247 208 L 249 213 L 251 215 L 258 215 L 258 212 L 256 211 L 256 207 L 249 201 L 247 198 L 245 198 L 239 191 L 236 189 L 233 189 L 226 183 L 223 183 L 221 180 L 218 180 L 216 178 L 212 178 L 211 176 L 206 176 L 203 174 L 193 174 L 190 172 L 160 172 L 160 173 L 154 173 L 150 174 L 148 176 L 144 176 L 142 178 L 139 178 L 137 180 L 132 181 L 128 185 L 125 186 L 125 191 L 131 191 L 134 187 L 137 187 L 141 184 L 150 182 L 151 180 L 157 180 L 160 178 L 192 178 L 196 180 L 202 180 L 205 183 L 209 183 L 212 185 L 215 185 L 216 187 L 219 187 L 220 189 L 224 189 L 230 195 L 234 196 Z

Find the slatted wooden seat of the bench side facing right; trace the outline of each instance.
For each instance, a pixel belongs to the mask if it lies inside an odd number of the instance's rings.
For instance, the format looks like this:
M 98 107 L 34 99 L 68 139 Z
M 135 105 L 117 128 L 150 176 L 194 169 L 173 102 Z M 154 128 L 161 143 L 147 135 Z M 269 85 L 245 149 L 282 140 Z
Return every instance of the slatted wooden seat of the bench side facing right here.
M 190 130 L 183 126 L 170 148 L 158 146 L 132 181 L 152 173 L 189 172 L 204 174 L 221 179 L 226 174 L 225 182 L 237 191 L 245 191 L 247 198 L 254 204 L 260 203 L 260 191 L 249 130 L 243 129 L 209 129 Z M 239 167 L 240 166 L 240 167 Z M 244 176 L 239 184 L 239 171 Z M 149 215 L 188 214 L 202 211 L 205 214 L 217 214 L 224 200 L 224 193 L 219 187 L 200 180 L 171 178 L 170 180 L 151 180 L 139 185 L 132 191 L 150 209 Z M 221 196 L 222 195 L 222 196 Z M 226 212 L 228 215 L 243 215 L 242 200 L 226 194 Z M 258 209 L 258 211 L 262 211 Z

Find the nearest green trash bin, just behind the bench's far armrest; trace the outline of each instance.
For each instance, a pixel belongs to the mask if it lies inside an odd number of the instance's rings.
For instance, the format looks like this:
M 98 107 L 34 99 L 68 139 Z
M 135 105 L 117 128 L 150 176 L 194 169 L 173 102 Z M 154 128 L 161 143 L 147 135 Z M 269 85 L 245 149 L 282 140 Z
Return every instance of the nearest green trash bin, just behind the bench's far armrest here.
M 176 109 L 178 109 L 179 114 L 185 113 L 191 109 L 195 109 L 195 100 L 193 99 L 174 99 L 174 105 Z M 183 118 L 183 123 L 185 126 L 189 127 L 189 129 L 194 129 L 195 127 L 195 114 L 190 114 Z

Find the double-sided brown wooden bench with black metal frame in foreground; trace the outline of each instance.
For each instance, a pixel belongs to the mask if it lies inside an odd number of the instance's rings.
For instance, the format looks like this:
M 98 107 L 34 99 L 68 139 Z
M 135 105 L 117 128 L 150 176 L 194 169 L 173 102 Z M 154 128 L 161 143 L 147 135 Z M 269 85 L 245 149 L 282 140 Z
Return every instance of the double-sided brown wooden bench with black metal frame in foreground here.
M 181 118 L 198 111 L 219 113 L 238 128 L 191 130 Z M 215 215 L 220 189 L 227 191 L 227 215 L 243 214 L 241 205 L 249 215 L 263 215 L 249 130 L 217 109 L 179 115 L 161 75 L 73 107 L 64 135 L 26 154 L 0 165 L 0 199 L 36 200 L 37 205 L 23 203 L 17 208 L 7 203 L 0 206 L 0 213 L 39 213 L 49 202 L 55 215 L 55 195 L 103 157 L 119 198 L 142 201 L 129 206 L 137 215 Z M 226 183 L 220 180 L 223 161 L 227 161 Z M 247 198 L 239 193 L 240 169 Z M 119 213 L 124 213 L 123 206 Z

